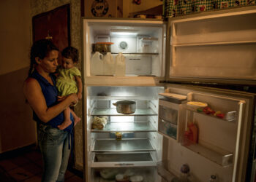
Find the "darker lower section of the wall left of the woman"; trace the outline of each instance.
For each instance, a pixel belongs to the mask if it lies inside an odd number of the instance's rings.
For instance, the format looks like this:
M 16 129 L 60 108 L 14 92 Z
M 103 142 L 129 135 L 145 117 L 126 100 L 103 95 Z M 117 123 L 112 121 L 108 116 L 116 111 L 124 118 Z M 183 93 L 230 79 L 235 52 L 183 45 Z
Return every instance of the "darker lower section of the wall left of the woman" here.
M 0 76 L 0 153 L 36 143 L 36 123 L 23 95 L 29 68 Z

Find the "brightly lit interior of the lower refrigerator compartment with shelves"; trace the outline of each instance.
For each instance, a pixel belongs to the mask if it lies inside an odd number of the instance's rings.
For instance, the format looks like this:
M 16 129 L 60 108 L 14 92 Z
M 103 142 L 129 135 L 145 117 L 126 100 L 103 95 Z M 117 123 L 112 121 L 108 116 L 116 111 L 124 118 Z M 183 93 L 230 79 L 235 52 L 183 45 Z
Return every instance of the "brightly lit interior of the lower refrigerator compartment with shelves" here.
M 87 159 L 89 180 L 113 180 L 118 174 L 157 181 L 162 135 L 157 133 L 158 93 L 163 87 L 87 87 Z M 134 114 L 116 111 L 118 100 L 134 100 Z M 98 129 L 97 119 L 106 119 Z

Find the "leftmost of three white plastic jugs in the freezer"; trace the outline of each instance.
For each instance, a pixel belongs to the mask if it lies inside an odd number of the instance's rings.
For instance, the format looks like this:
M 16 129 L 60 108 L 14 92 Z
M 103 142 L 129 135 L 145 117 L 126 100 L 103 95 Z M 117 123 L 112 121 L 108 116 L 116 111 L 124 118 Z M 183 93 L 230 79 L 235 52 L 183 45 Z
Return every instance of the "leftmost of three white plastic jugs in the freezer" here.
M 99 52 L 95 52 L 91 57 L 91 75 L 102 75 L 104 68 L 103 55 Z

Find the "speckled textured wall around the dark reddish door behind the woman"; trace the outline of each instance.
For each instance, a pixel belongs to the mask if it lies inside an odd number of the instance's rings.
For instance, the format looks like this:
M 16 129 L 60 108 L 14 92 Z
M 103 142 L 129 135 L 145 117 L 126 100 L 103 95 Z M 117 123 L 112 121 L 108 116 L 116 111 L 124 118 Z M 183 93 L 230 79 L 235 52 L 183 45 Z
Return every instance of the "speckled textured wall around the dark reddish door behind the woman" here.
M 71 33 L 71 46 L 78 48 L 80 52 L 80 0 L 30 0 L 31 3 L 31 17 L 39 15 L 42 12 L 48 12 L 56 7 L 61 7 L 64 4 L 70 4 L 70 33 Z M 31 29 L 32 32 L 32 29 Z M 31 36 L 32 37 L 32 36 Z M 75 106 L 75 113 L 82 116 L 82 102 Z M 83 129 L 82 122 L 75 126 L 75 168 L 83 170 Z

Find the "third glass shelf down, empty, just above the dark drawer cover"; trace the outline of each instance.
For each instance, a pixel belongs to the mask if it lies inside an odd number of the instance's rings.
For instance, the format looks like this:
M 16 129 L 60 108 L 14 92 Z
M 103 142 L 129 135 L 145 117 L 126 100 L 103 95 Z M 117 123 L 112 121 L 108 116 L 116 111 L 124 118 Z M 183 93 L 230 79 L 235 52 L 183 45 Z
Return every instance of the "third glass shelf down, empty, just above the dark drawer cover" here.
M 94 144 L 94 152 L 126 152 L 126 151 L 155 151 L 148 138 L 132 139 L 97 139 Z

